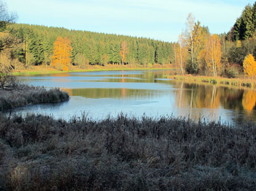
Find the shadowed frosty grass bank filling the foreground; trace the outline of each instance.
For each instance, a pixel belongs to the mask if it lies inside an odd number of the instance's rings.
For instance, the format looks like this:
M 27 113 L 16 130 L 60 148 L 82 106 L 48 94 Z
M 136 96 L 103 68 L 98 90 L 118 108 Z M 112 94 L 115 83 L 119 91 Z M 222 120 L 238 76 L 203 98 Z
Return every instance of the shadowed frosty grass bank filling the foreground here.
M 0 190 L 255 190 L 256 126 L 0 115 Z

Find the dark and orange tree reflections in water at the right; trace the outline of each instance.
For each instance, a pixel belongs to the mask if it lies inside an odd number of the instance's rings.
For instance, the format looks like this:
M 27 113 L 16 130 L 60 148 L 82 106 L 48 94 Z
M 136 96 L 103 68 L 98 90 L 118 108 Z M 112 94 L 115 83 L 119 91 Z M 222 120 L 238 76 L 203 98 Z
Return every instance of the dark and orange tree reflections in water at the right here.
M 244 110 L 243 112 L 246 114 L 252 113 L 256 107 L 255 90 L 184 82 L 176 83 L 176 85 L 179 87 L 179 90 L 176 91 L 176 106 L 180 108 L 208 108 L 210 109 L 210 118 L 218 116 L 216 109 L 221 107 L 236 111 Z M 190 112 L 190 114 L 199 117 L 196 112 L 193 110 L 193 113 Z

